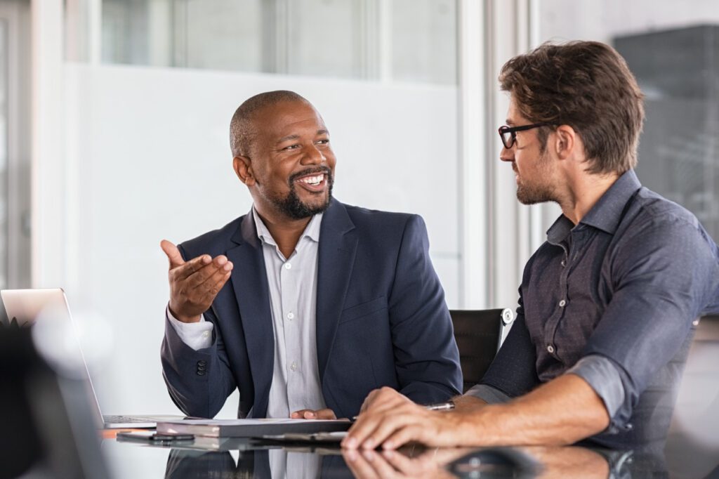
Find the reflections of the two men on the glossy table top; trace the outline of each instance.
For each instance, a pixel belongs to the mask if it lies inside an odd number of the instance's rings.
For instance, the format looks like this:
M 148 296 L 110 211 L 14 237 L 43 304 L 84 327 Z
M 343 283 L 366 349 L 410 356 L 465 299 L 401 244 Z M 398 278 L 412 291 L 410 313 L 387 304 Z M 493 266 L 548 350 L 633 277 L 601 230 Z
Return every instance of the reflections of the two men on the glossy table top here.
M 230 449 L 231 447 L 231 449 Z M 235 439 L 218 450 L 106 441 L 118 478 L 630 478 L 668 477 L 664 458 L 589 447 L 341 450 Z M 152 459 L 150 459 L 152 457 Z M 150 464 L 152 462 L 152 464 Z

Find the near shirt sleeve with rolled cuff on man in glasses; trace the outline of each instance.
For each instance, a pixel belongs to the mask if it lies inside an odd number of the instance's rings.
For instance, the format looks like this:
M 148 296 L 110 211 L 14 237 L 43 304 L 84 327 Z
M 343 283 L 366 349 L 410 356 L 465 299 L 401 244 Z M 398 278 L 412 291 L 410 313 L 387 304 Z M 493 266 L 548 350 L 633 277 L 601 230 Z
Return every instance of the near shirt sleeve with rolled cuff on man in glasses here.
M 603 272 L 613 278 L 613 297 L 582 353 L 607 361 L 575 370 L 590 384 L 606 375 L 607 391 L 621 385 L 618 406 L 619 393 L 606 393 L 606 404 L 602 387 L 592 386 L 618 425 L 627 423 L 640 394 L 682 347 L 692 321 L 716 300 L 719 288 L 715 245 L 686 219 L 652 216 L 620 242 L 607 266 L 611 271 Z

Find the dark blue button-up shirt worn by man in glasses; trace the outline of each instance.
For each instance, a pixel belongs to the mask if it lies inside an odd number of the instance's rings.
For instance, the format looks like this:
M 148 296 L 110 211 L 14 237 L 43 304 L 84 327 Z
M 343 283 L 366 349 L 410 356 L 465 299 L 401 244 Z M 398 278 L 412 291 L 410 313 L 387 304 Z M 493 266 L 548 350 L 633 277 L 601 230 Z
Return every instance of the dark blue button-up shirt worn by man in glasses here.
M 666 436 L 682 372 L 672 359 L 685 357 L 692 321 L 719 310 L 719 248 L 693 214 L 630 170 L 579 224 L 557 219 L 519 293 L 485 391 L 512 398 L 574 373 L 612 416 L 598 442 L 636 447 Z

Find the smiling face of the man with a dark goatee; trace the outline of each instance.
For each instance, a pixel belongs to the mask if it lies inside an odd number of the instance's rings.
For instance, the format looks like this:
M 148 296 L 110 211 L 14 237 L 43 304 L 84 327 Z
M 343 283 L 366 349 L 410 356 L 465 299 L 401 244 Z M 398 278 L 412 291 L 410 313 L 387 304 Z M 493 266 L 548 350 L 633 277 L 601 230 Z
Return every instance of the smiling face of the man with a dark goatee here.
M 336 160 L 313 106 L 282 101 L 257 111 L 252 123 L 249 156 L 235 158 L 235 170 L 260 216 L 296 220 L 327 209 Z

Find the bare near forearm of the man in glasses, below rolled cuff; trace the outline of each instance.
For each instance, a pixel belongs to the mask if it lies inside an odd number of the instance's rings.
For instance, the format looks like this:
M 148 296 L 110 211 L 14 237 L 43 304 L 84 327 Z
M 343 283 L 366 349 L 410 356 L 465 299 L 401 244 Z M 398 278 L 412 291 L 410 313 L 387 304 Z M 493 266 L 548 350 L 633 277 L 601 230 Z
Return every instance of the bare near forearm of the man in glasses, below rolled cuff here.
M 585 380 L 562 375 L 510 403 L 451 414 L 462 445 L 563 445 L 609 425 L 604 403 Z

